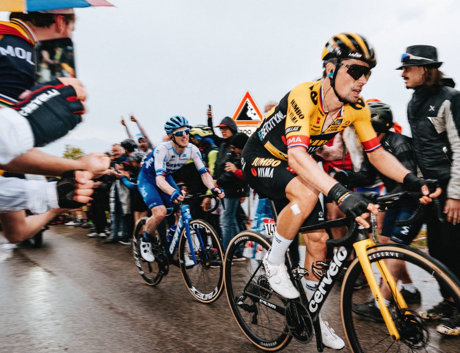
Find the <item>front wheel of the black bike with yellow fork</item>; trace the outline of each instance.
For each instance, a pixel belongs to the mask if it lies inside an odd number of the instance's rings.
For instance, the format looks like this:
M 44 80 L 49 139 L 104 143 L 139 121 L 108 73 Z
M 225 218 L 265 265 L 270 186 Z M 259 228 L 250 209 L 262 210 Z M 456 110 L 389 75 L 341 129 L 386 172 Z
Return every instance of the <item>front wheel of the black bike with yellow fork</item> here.
M 449 341 L 443 339 L 443 336 L 436 331 L 439 321 L 426 321 L 420 317 L 420 313 L 426 312 L 443 300 L 440 294 L 441 288 L 448 290 L 457 305 L 460 304 L 459 280 L 439 261 L 408 246 L 377 245 L 368 249 L 367 255 L 377 283 L 380 283 L 381 275 L 376 264 L 378 261 L 385 260 L 391 273 L 401 273 L 403 267 L 407 269 L 420 296 L 417 292 L 405 290 L 401 292 L 411 315 L 403 315 L 396 300 L 391 296 L 388 309 L 401 335 L 400 340 L 393 341 L 380 311 L 370 309 L 370 305 L 367 304 L 374 302 L 370 288 L 353 290 L 355 281 L 362 271 L 361 264 L 355 259 L 345 274 L 340 297 L 342 323 L 351 351 L 458 352 L 460 339 L 454 338 Z M 384 279 L 382 282 L 387 281 Z M 401 281 L 398 283 L 398 289 L 401 291 Z M 390 289 L 390 293 L 392 292 L 393 290 Z

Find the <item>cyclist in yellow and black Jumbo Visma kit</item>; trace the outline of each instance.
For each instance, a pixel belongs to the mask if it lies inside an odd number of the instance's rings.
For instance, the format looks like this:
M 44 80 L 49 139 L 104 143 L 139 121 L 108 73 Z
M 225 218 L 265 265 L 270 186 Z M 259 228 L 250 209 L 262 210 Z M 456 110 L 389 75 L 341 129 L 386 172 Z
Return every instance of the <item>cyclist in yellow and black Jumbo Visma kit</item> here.
M 242 153 L 243 175 L 249 185 L 265 196 L 285 200 L 286 206 L 278 210 L 271 250 L 263 262 L 270 286 L 287 298 L 296 298 L 299 292 L 284 265 L 285 252 L 304 221 L 309 225 L 323 221 L 319 193 L 335 200 L 341 211 L 365 228 L 369 227 L 367 212 L 378 213 L 378 206 L 328 176 L 311 156 L 339 131 L 353 124 L 369 161 L 409 189 L 422 188 L 426 196 L 421 202 L 430 202 L 430 197 L 440 193 L 437 190 L 428 196 L 424 181 L 380 148 L 369 108 L 360 96 L 377 63 L 368 41 L 358 34 L 337 34 L 326 43 L 322 60 L 322 80 L 300 84 L 283 97 L 259 124 Z M 311 264 L 325 260 L 328 235 L 324 230 L 303 235 L 307 245 L 305 268 L 310 274 L 302 282 L 311 298 L 319 281 Z M 320 323 L 323 343 L 335 349 L 344 347 L 327 322 L 320 318 Z

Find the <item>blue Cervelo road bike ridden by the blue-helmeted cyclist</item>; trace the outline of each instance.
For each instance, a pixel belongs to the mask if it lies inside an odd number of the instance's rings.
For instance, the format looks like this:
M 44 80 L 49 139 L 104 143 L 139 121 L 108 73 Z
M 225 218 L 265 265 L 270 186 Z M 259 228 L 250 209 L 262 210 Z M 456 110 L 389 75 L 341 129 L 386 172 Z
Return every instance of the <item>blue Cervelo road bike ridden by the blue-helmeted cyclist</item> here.
M 186 196 L 184 203 L 179 202 L 167 209 L 168 215 L 180 214 L 180 218 L 171 241 L 168 242 L 158 229 L 152 234 L 155 261 L 145 261 L 139 248 L 147 217 L 136 222 L 132 250 L 138 271 L 148 285 L 158 285 L 168 274 L 169 265 L 173 264 L 180 268 L 192 296 L 200 302 L 211 303 L 219 298 L 224 288 L 222 260 L 225 251 L 213 227 L 201 219 L 193 220 L 190 207 L 185 204 L 186 201 L 204 197 L 216 199 L 214 195 Z M 209 212 L 218 206 L 219 201 L 216 199 L 216 205 Z

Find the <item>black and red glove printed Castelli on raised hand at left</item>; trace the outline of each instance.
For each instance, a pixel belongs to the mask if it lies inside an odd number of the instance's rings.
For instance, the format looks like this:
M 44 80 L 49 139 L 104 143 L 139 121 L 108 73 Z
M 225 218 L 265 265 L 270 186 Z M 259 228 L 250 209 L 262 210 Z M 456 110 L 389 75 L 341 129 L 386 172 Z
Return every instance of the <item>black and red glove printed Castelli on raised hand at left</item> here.
M 52 80 L 31 90 L 29 97 L 11 108 L 29 120 L 35 147 L 63 137 L 81 122 L 84 108 L 72 86 Z

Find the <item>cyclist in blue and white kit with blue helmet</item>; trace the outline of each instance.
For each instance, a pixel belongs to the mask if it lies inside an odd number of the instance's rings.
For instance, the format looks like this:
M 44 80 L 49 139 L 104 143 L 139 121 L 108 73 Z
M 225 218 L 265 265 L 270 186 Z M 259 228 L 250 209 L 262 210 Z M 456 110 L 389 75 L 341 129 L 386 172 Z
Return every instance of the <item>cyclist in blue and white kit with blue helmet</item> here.
M 145 222 L 144 236 L 140 242 L 144 260 L 152 262 L 151 234 L 166 216 L 166 208 L 172 202 L 184 200 L 184 191 L 179 191 L 171 174 L 190 159 L 201 174 L 203 183 L 222 199 L 224 190 L 214 187 L 213 177 L 201 160 L 199 149 L 189 142 L 190 126 L 183 116 L 173 116 L 166 121 L 165 131 L 170 141 L 162 142 L 147 156 L 138 175 L 138 189 L 145 204 L 152 210 L 152 216 Z

